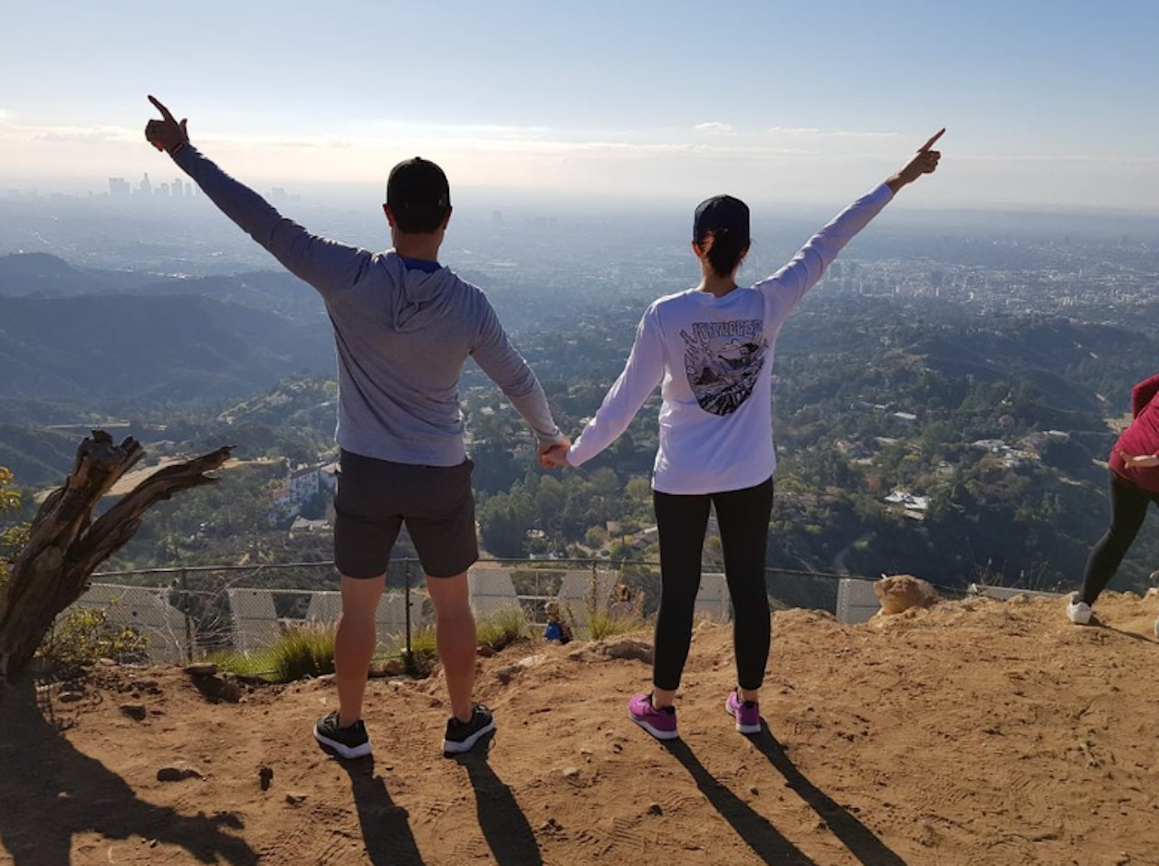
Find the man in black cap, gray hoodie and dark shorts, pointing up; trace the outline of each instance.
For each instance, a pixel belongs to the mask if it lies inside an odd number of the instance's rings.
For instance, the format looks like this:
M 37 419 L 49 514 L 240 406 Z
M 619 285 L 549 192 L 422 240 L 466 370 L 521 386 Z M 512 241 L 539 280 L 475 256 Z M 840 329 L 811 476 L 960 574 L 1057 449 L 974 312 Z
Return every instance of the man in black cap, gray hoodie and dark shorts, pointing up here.
M 362 706 L 374 612 L 391 549 L 406 523 L 428 578 L 451 698 L 443 749 L 467 751 L 495 728 L 491 712 L 472 700 L 475 619 L 467 568 L 479 550 L 458 389 L 467 358 L 526 419 L 541 460 L 569 442 L 487 296 L 438 264 L 451 219 L 446 176 L 420 157 L 395 166 L 382 206 L 394 247 L 370 252 L 282 216 L 203 156 L 189 142 L 185 120 L 177 123 L 159 101 L 150 101 L 161 119 L 146 125 L 148 141 L 286 270 L 316 288 L 334 325 L 342 449 L 334 500 L 334 558 L 342 574 L 334 650 L 338 710 L 319 719 L 314 736 L 343 757 L 371 751 Z

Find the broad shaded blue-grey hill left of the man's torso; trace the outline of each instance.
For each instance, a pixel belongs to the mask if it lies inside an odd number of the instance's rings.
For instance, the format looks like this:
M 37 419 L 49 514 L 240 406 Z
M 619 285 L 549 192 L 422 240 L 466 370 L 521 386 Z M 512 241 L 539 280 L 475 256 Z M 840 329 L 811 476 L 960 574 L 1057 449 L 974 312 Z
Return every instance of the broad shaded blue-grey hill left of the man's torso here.
M 0 401 L 108 412 L 248 396 L 334 350 L 321 323 L 210 298 L 0 298 Z

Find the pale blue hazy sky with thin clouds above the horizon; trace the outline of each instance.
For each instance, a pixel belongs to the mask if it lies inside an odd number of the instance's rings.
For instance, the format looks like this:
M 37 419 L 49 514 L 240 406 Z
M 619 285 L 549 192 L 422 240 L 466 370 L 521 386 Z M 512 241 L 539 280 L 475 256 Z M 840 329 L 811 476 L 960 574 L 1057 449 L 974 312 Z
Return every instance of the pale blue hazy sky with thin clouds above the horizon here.
M 167 178 L 154 93 L 260 188 L 1159 211 L 1156 0 L 0 0 L 0 188 Z M 376 193 L 380 195 L 380 193 Z

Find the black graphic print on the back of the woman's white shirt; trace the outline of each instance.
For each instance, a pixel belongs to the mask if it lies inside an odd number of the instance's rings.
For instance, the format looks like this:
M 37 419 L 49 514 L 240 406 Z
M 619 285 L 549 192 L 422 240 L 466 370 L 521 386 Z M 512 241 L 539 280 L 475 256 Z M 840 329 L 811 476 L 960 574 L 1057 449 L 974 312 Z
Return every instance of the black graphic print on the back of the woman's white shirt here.
M 768 343 L 759 318 L 693 322 L 684 338 L 684 372 L 697 403 L 713 414 L 731 414 L 757 384 Z

